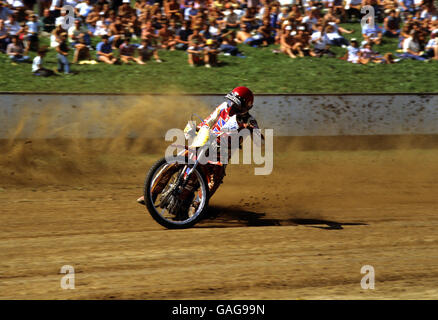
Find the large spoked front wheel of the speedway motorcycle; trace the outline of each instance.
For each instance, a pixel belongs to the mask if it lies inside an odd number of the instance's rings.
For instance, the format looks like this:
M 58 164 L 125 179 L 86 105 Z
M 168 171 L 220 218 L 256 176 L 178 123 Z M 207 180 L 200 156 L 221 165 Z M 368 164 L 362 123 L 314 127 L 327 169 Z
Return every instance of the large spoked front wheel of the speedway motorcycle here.
M 199 167 L 192 172 L 189 187 L 181 187 L 190 168 L 184 158 L 171 162 L 162 158 L 152 166 L 146 177 L 146 207 L 152 218 L 168 229 L 190 228 L 207 211 L 208 184 Z

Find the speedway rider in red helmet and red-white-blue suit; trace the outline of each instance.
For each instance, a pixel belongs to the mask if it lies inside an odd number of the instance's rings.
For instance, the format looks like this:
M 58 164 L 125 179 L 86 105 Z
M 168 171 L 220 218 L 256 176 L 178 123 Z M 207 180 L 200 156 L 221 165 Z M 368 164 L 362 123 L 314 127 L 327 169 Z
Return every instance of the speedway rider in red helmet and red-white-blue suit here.
M 225 101 L 215 108 L 215 110 L 201 122 L 198 128 L 197 139 L 204 141 L 208 140 L 210 130 L 219 133 L 221 128 L 227 121 L 236 115 L 238 131 L 248 129 L 251 134 L 254 129 L 258 129 L 256 119 L 249 114 L 249 110 L 253 107 L 254 95 L 247 87 L 236 87 L 225 96 Z M 263 135 L 262 135 L 263 139 Z M 210 197 L 217 190 L 225 176 L 224 165 L 207 164 L 209 172 L 211 172 L 209 193 Z M 137 199 L 140 204 L 145 204 L 144 196 Z

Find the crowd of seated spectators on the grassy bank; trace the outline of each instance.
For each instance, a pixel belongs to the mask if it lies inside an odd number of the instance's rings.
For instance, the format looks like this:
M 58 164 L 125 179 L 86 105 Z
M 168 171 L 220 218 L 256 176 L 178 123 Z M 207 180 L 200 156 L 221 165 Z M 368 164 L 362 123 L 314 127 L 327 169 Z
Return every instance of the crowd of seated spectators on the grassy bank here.
M 361 25 L 366 5 L 375 19 Z M 0 51 L 13 63 L 37 52 L 32 70 L 44 75 L 51 74 L 40 72 L 48 50 L 64 73 L 71 63 L 160 63 L 161 50 L 184 50 L 190 66 L 211 67 L 220 53 L 245 57 L 239 48 L 272 44 L 293 59 L 336 57 L 338 46 L 352 63 L 438 60 L 437 17 L 434 0 L 0 0 Z M 363 40 L 348 40 L 354 30 L 344 22 L 357 23 Z M 385 38 L 398 38 L 397 59 L 373 49 Z

